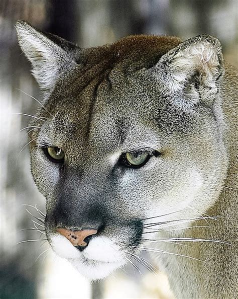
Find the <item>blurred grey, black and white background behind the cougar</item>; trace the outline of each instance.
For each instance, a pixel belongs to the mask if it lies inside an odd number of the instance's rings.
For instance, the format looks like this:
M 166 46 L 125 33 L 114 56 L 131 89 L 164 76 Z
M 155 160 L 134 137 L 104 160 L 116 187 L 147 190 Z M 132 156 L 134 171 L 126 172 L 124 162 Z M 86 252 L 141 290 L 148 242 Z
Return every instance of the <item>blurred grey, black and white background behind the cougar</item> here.
M 130 266 L 90 284 L 53 254 L 44 234 L 26 230 L 41 228 L 43 214 L 34 207 L 43 213 L 45 208 L 31 178 L 28 147 L 24 148 L 29 116 L 17 113 L 34 114 L 38 103 L 29 95 L 40 100 L 40 94 L 17 44 L 16 20 L 26 20 L 80 47 L 111 43 L 130 34 L 186 39 L 208 33 L 219 38 L 225 59 L 237 67 L 237 12 L 237 0 L 0 0 L 1 299 L 174 298 L 165 274 L 160 269 L 152 273 L 140 264 L 136 266 L 141 274 Z M 27 240 L 34 241 L 19 243 Z

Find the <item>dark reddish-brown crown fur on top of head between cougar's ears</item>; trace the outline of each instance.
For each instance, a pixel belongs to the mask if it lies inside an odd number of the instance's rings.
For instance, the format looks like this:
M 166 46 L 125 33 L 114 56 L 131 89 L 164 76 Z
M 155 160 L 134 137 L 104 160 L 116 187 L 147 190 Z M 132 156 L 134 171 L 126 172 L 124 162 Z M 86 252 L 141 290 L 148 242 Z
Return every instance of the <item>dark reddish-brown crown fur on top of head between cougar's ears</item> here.
M 128 36 L 113 44 L 82 50 L 77 62 L 82 67 L 86 67 L 87 70 L 92 68 L 86 74 L 90 80 L 90 75 L 95 74 L 95 72 L 99 74 L 102 70 L 111 69 L 115 66 L 120 69 L 120 72 L 151 67 L 158 62 L 162 55 L 179 43 L 181 43 L 181 39 L 178 37 Z

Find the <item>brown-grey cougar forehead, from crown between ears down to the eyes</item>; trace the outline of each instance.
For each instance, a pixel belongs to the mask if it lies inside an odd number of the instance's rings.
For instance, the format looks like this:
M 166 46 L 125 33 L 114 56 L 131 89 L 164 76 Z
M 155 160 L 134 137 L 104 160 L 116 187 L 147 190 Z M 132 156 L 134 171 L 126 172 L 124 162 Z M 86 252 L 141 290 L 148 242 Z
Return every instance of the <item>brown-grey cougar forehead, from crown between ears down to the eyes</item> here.
M 159 140 L 159 131 L 171 132 L 175 120 L 177 131 L 184 130 L 191 116 L 168 105 L 150 73 L 155 61 L 179 43 L 142 35 L 80 52 L 80 64 L 59 78 L 46 103 L 54 114 L 49 133 L 57 134 L 57 144 L 110 150 L 128 136 L 128 148 L 140 148 L 143 139 L 149 146 L 155 136 Z

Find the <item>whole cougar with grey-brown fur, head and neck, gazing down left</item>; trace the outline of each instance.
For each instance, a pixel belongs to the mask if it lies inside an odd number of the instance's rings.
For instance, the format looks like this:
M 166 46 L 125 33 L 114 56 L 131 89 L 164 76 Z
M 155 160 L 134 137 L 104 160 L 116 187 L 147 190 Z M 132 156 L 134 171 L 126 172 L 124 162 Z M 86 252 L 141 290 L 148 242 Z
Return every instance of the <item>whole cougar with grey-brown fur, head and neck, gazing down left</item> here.
M 84 49 L 16 29 L 42 91 L 31 171 L 55 253 L 98 280 L 150 251 L 177 298 L 237 298 L 237 72 L 218 39 Z

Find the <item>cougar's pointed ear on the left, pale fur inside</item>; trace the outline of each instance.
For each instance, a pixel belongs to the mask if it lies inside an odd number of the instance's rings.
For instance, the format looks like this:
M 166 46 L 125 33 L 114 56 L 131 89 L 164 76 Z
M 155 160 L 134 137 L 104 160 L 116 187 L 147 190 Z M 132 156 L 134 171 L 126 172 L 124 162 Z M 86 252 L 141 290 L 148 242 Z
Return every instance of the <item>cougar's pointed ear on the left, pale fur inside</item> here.
M 53 34 L 38 31 L 25 21 L 17 21 L 18 41 L 32 63 L 32 73 L 43 91 L 54 88 L 57 76 L 66 65 L 75 63 L 72 55 L 76 45 Z

